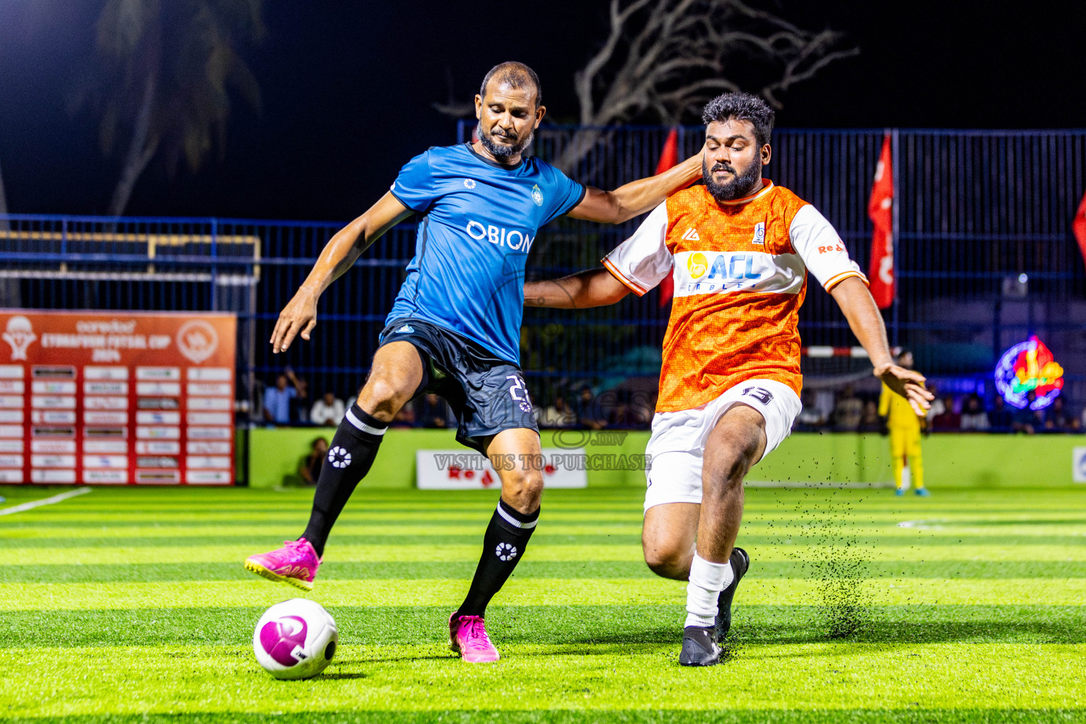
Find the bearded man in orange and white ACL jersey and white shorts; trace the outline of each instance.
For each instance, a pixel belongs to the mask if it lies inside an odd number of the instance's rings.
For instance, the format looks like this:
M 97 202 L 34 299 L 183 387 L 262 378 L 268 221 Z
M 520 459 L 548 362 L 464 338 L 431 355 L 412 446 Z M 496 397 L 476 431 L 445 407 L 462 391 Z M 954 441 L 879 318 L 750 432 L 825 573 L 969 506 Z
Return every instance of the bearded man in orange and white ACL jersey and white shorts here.
M 702 116 L 705 186 L 673 193 L 604 259 L 605 269 L 525 285 L 530 306 L 583 307 L 639 296 L 674 277 L 645 494 L 642 546 L 657 574 L 686 586 L 683 665 L 711 665 L 749 557 L 735 548 L 743 478 L 799 414 L 799 306 L 807 270 L 868 351 L 874 374 L 918 415 L 924 378 L 894 364 L 867 279 L 813 206 L 763 179 L 773 112 L 725 93 Z

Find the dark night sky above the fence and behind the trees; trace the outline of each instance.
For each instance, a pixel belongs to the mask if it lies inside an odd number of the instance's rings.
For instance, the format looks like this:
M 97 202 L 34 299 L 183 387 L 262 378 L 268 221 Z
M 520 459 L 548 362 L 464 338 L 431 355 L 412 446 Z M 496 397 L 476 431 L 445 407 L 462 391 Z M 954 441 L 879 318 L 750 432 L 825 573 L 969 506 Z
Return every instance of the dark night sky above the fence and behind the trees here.
M 783 94 L 779 127 L 1086 125 L 1086 3 L 755 4 L 843 30 L 861 49 Z M 0 168 L 12 212 L 102 213 L 109 202 L 118 163 L 99 151 L 97 119 L 68 109 L 100 7 L 0 0 Z M 247 55 L 262 111 L 237 102 L 227 148 L 197 175 L 182 165 L 169 179 L 153 163 L 128 213 L 346 220 L 411 156 L 455 140 L 455 123 L 430 107 L 447 100 L 449 76 L 469 100 L 494 63 L 526 62 L 548 118 L 571 120 L 573 72 L 604 38 L 606 7 L 268 0 L 268 35 Z

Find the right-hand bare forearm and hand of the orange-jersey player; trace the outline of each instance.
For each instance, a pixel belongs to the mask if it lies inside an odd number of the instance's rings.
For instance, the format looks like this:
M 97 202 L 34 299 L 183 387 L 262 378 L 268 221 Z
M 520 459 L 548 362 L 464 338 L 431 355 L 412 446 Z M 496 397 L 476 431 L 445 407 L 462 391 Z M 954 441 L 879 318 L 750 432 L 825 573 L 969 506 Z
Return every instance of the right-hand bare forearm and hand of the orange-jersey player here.
M 935 396 L 924 389 L 924 376 L 894 364 L 886 341 L 886 327 L 867 285 L 851 277 L 845 279 L 830 292 L 848 319 L 856 339 L 868 351 L 874 374 L 891 390 L 909 401 L 913 411 L 923 416 Z

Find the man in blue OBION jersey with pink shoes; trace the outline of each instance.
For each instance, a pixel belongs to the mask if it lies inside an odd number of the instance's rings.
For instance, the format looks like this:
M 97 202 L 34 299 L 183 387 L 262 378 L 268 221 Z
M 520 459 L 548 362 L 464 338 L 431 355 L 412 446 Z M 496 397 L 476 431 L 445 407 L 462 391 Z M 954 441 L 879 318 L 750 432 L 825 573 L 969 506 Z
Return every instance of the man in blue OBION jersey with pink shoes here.
M 415 257 L 379 338 L 357 402 L 339 425 L 321 468 L 310 523 L 283 548 L 245 568 L 312 589 L 325 542 L 368 472 L 393 416 L 424 392 L 453 408 L 457 440 L 515 465 L 495 465 L 502 495 L 483 536 L 467 597 L 450 617 L 453 650 L 496 661 L 483 613 L 523 557 L 540 512 L 543 477 L 526 460 L 541 454 L 532 403 L 519 367 L 523 276 L 540 227 L 568 214 L 619 224 L 659 205 L 700 175 L 700 156 L 615 191 L 586 188 L 523 150 L 546 109 L 527 65 L 502 63 L 476 96 L 479 140 L 431 148 L 412 158 L 389 193 L 331 238 L 279 316 L 273 352 L 310 339 L 317 299 L 378 237 L 421 215 Z

